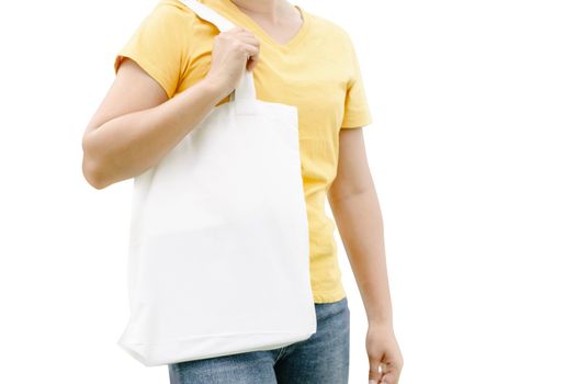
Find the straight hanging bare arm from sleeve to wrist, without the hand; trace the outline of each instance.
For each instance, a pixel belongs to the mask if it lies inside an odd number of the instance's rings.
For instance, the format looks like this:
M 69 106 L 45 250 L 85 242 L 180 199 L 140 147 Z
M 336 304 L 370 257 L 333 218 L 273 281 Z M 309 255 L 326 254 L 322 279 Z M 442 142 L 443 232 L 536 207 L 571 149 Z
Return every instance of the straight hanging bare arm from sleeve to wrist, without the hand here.
M 368 320 L 392 325 L 383 221 L 361 127 L 340 129 L 338 171 L 328 201 Z

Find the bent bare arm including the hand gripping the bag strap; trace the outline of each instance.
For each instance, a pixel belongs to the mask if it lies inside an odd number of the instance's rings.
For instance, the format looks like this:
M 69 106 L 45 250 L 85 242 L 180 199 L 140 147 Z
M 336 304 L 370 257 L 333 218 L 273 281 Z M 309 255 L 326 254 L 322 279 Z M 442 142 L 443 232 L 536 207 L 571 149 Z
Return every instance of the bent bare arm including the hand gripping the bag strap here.
M 156 166 L 258 63 L 260 42 L 236 26 L 214 37 L 208 72 L 168 99 L 160 83 L 125 58 L 82 137 L 82 172 L 102 189 Z M 169 58 L 167 58 L 169 59 Z

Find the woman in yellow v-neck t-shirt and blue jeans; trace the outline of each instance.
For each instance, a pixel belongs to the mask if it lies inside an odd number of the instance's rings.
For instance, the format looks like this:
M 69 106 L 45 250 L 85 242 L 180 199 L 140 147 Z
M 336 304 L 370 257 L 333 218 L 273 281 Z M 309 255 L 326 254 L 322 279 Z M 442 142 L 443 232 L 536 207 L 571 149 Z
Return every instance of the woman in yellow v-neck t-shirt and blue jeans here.
M 362 136 L 372 118 L 349 35 L 285 0 L 200 2 L 238 27 L 219 33 L 179 0 L 158 1 L 117 53 L 116 78 L 84 133 L 84 177 L 102 189 L 154 167 L 253 70 L 258 99 L 298 108 L 318 323 L 287 347 L 170 364 L 171 383 L 348 382 L 350 313 L 326 199 L 366 309 L 369 379 L 397 383 L 403 359 Z

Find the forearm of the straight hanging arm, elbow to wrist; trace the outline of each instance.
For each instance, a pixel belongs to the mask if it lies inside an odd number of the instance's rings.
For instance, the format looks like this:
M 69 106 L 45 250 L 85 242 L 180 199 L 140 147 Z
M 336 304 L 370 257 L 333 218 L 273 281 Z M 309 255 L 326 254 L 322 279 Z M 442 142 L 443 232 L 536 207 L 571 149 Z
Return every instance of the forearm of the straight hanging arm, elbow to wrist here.
M 384 224 L 374 188 L 330 202 L 369 323 L 392 326 Z

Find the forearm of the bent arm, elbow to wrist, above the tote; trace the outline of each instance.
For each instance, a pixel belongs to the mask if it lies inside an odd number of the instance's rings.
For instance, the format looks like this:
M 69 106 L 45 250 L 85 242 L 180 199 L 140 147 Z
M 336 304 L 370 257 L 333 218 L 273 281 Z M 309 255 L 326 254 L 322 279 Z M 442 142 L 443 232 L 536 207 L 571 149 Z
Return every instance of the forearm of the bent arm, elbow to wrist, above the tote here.
M 205 78 L 150 109 L 108 121 L 86 135 L 84 159 L 92 183 L 104 188 L 155 166 L 226 97 Z

